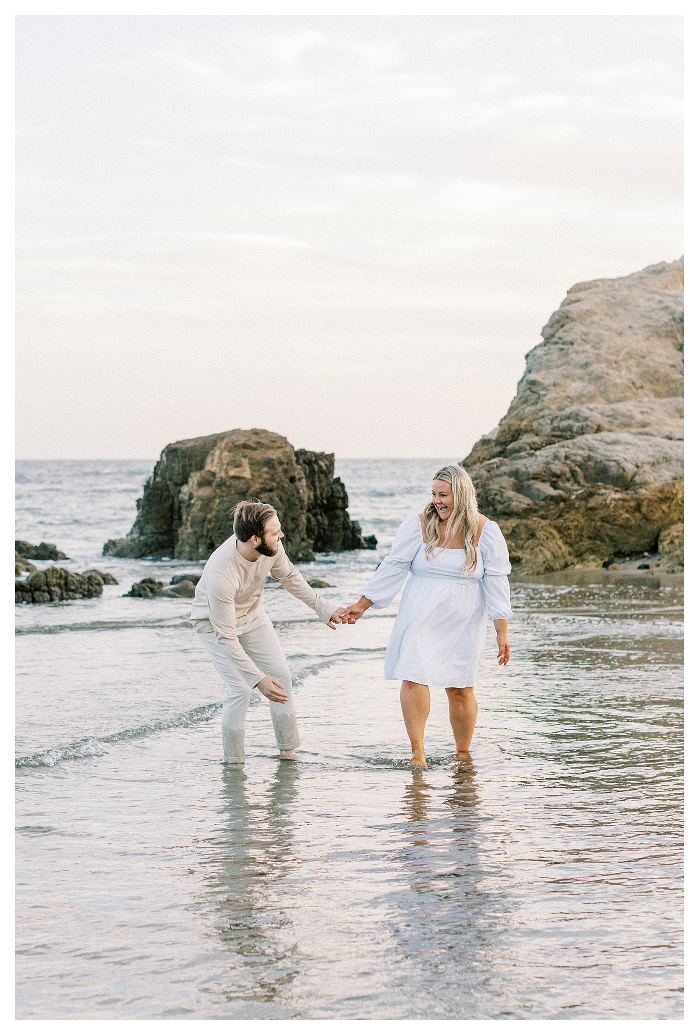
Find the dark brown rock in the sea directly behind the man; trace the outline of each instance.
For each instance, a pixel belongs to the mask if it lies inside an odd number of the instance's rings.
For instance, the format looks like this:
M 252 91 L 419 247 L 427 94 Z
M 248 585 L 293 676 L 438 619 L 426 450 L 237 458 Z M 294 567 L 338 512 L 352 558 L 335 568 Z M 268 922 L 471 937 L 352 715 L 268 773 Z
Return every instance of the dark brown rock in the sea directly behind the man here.
M 260 428 L 174 442 L 144 486 L 128 536 L 110 539 L 103 553 L 204 560 L 232 535 L 231 510 L 244 499 L 276 508 L 293 560 L 310 560 L 314 550 L 361 549 L 334 467 L 332 453 L 294 450 L 283 436 Z

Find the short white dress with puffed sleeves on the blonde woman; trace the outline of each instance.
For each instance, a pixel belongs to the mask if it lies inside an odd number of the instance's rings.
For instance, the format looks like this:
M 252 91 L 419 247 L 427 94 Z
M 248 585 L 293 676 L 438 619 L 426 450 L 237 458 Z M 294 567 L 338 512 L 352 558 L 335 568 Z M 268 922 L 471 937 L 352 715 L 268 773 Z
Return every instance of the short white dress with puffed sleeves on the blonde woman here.
M 494 521 L 483 526 L 476 568 L 463 574 L 462 548 L 428 560 L 419 514 L 402 523 L 388 557 L 361 590 L 386 608 L 411 573 L 386 649 L 386 678 L 428 686 L 475 686 L 489 619 L 510 618 L 512 570 Z

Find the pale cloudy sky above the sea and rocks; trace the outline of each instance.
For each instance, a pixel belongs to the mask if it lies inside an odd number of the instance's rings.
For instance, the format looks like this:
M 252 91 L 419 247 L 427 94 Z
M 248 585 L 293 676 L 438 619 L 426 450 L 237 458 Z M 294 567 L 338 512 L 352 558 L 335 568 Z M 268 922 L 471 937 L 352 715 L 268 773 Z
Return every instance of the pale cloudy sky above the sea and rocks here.
M 463 457 L 677 259 L 681 19 L 18 20 L 18 455 Z

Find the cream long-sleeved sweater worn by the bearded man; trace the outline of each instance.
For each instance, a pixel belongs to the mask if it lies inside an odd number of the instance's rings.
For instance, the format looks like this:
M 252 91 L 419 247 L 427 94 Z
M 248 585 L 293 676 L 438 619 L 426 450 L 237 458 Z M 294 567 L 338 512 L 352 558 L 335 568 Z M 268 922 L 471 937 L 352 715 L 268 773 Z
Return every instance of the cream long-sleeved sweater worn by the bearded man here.
M 263 591 L 268 574 L 278 579 L 285 590 L 312 608 L 322 621 L 327 622 L 335 611 L 294 567 L 281 542 L 274 557 L 261 555 L 256 561 L 246 561 L 236 550 L 235 535 L 214 550 L 196 584 L 189 621 L 197 632 L 216 633 L 249 686 L 255 686 L 266 673 L 247 656 L 238 640 L 238 631 L 244 631 L 249 622 L 264 613 Z

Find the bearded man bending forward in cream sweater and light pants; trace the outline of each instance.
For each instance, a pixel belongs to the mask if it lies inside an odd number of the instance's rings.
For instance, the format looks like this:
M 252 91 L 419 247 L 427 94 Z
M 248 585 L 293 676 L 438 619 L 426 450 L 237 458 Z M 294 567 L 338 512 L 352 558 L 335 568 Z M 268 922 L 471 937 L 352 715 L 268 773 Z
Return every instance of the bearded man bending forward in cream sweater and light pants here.
M 189 615 L 225 685 L 223 761 L 245 761 L 245 713 L 253 687 L 270 702 L 280 757 L 295 759 L 300 740 L 292 676 L 263 610 L 265 576 L 278 579 L 331 629 L 341 622 L 342 608 L 333 610 L 294 567 L 281 545 L 279 518 L 269 503 L 239 503 L 233 511 L 233 531 L 207 561 Z

